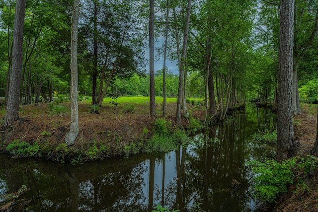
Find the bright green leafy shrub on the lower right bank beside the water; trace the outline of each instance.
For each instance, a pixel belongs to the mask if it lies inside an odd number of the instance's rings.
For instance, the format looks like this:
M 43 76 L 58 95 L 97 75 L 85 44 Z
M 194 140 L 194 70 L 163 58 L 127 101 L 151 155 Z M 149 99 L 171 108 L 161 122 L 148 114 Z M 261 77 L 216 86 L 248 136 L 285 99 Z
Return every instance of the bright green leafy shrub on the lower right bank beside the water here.
M 293 157 L 278 163 L 275 160 L 267 160 L 265 163 L 251 161 L 253 176 L 254 197 L 263 202 L 276 202 L 276 198 L 288 191 L 287 186 L 298 182 L 297 188 L 304 188 L 304 181 L 300 176 L 313 172 L 318 166 L 317 158 Z M 298 179 L 295 178 L 298 176 Z M 306 178 L 306 176 L 305 176 Z M 305 188 L 307 188 L 305 186 Z

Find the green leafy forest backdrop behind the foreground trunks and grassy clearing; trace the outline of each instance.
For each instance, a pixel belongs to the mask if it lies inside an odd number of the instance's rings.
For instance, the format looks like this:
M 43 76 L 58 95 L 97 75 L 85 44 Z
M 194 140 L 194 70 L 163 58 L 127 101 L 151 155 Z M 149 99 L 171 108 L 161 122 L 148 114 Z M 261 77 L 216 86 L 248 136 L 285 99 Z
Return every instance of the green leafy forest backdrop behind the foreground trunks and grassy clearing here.
M 5 96 L 7 73 L 11 70 L 15 1 L 0 3 L 0 95 Z M 83 0 L 80 3 L 79 95 L 98 99 L 114 93 L 116 87 L 120 95 L 149 95 L 149 58 L 145 55 L 149 51 L 149 2 Z M 155 64 L 162 64 L 165 46 L 162 41 L 166 36 L 166 59 L 178 64 L 187 2 L 173 0 L 168 10 L 166 1 L 155 3 Z M 185 95 L 202 98 L 213 87 L 217 103 L 224 108 L 249 100 L 275 103 L 278 5 L 277 0 L 192 2 L 184 59 Z M 315 0 L 299 0 L 295 5 L 293 60 L 298 82 L 295 86 L 299 87 L 300 101 L 310 103 L 318 101 L 316 7 Z M 23 104 L 40 99 L 52 101 L 54 91 L 69 94 L 71 10 L 72 1 L 68 0 L 27 1 L 20 92 Z M 162 96 L 163 67 L 156 67 L 155 93 Z M 177 96 L 179 71 L 165 68 L 166 95 Z

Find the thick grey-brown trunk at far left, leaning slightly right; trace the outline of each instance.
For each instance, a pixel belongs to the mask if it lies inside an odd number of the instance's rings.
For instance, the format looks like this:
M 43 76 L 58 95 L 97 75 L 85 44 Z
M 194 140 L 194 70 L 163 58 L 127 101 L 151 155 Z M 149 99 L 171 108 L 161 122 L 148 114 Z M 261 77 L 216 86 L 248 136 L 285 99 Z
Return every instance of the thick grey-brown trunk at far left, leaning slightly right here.
M 19 119 L 19 94 L 23 63 L 23 27 L 25 17 L 26 0 L 17 0 L 15 5 L 13 46 L 12 46 L 12 71 L 10 75 L 10 87 L 3 127 L 14 125 Z

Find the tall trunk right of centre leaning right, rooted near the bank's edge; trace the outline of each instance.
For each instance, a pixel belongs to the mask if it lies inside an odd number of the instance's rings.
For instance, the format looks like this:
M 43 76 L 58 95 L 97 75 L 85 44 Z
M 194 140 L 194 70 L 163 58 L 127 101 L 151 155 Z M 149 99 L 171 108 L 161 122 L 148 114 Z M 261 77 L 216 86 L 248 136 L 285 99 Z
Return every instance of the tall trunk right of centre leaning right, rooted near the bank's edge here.
M 178 99 L 177 99 L 177 109 L 176 109 L 176 118 L 175 118 L 175 122 L 178 127 L 181 124 L 181 100 L 182 100 L 182 94 L 184 94 L 183 77 L 184 77 L 184 66 L 185 66 L 185 57 L 186 57 L 187 44 L 188 44 L 188 36 L 189 36 L 191 4 L 192 4 L 192 0 L 188 0 L 187 15 L 185 20 L 184 36 L 183 36 L 183 47 L 182 47 L 181 61 L 180 61 L 180 67 L 179 67 L 179 87 L 178 87 Z M 183 108 L 183 113 L 185 117 L 189 116 L 186 108 Z

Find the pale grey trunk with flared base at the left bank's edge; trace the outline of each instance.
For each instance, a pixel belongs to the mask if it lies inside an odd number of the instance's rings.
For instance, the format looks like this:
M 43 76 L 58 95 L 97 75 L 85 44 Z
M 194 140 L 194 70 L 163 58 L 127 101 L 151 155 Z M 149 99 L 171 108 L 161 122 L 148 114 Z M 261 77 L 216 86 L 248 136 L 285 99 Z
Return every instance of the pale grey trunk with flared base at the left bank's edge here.
M 79 134 L 78 109 L 78 26 L 79 0 L 74 0 L 72 11 L 72 41 L 71 41 L 71 127 L 65 136 L 67 145 L 73 145 Z

